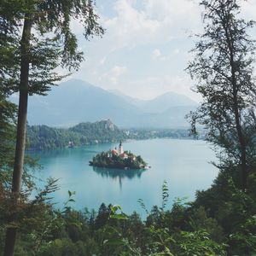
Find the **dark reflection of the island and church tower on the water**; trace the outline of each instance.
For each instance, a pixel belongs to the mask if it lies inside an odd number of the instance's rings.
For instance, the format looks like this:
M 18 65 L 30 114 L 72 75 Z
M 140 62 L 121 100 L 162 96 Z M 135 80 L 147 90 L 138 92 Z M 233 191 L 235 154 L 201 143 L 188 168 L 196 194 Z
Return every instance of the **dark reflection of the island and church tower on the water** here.
M 109 169 L 109 168 L 100 168 L 93 166 L 93 171 L 99 174 L 102 177 L 110 177 L 113 180 L 119 180 L 119 187 L 122 189 L 122 179 L 125 179 L 125 177 L 128 177 L 129 179 L 138 177 L 141 178 L 143 172 L 146 170 L 143 169 Z

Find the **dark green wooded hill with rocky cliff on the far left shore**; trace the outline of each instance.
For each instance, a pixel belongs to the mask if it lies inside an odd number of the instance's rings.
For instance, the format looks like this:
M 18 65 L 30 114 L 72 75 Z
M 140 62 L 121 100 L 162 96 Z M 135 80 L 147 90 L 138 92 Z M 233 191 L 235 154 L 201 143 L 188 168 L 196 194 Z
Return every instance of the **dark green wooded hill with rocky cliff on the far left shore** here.
M 81 123 L 71 128 L 52 128 L 47 125 L 27 127 L 29 149 L 43 150 L 82 146 L 93 143 L 117 143 L 126 138 L 111 120 Z

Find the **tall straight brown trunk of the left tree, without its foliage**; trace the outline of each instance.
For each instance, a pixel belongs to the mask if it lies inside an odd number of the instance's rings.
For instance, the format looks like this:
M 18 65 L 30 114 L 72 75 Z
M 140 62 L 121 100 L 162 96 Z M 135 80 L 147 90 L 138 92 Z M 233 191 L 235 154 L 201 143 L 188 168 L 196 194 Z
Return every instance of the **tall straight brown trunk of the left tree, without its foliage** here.
M 28 74 L 29 74 L 29 47 L 32 30 L 32 19 L 30 15 L 26 15 L 21 47 L 21 62 L 20 62 L 20 99 L 18 112 L 17 137 L 15 148 L 15 166 L 12 181 L 12 196 L 11 201 L 14 203 L 15 211 L 10 216 L 10 221 L 17 219 L 16 209 L 20 197 L 21 177 L 23 172 L 25 145 L 26 145 L 26 113 L 27 113 L 27 98 L 28 98 Z M 16 228 L 9 228 L 6 231 L 4 256 L 12 256 L 15 252 Z

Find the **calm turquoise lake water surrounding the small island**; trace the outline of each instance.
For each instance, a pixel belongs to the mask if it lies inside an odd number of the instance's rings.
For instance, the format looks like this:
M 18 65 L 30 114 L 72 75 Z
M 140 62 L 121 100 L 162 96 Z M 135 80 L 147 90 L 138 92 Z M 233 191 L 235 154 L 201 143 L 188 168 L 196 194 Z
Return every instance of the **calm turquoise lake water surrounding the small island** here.
M 153 139 L 123 143 L 125 150 L 140 154 L 151 166 L 148 170 L 115 170 L 89 166 L 89 160 L 99 152 L 118 147 L 119 143 L 90 145 L 83 148 L 64 148 L 39 152 L 44 169 L 37 177 L 59 178 L 60 189 L 54 201 L 62 207 L 67 191 L 75 191 L 71 206 L 98 209 L 102 202 L 119 204 L 123 211 L 143 209 L 137 203 L 143 199 L 148 210 L 161 205 L 161 186 L 164 180 L 169 187 L 169 207 L 175 198 L 195 198 L 197 189 L 207 189 L 218 170 L 209 162 L 215 154 L 204 141 L 180 139 Z M 38 181 L 38 185 L 42 183 Z

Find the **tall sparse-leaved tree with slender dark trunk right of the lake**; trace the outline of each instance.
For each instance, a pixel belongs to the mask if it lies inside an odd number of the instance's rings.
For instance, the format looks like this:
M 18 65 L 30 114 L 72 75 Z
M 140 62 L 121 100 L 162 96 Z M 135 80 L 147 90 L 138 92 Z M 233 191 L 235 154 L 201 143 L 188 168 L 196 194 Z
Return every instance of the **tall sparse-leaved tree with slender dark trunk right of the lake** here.
M 203 99 L 197 111 L 190 113 L 192 132 L 196 133 L 196 122 L 206 127 L 207 140 L 220 148 L 218 167 L 238 168 L 237 185 L 246 191 L 256 152 L 255 42 L 247 34 L 255 22 L 238 18 L 239 2 L 201 1 L 204 32 L 195 44 L 195 59 L 188 71 Z

